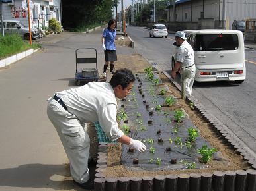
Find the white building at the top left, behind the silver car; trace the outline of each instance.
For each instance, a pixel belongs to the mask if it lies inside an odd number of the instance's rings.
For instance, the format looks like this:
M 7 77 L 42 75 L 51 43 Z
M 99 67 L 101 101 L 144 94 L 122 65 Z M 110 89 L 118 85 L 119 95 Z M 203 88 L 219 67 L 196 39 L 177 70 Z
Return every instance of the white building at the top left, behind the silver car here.
M 12 3 L 2 3 L 3 20 L 20 20 L 28 26 L 28 13 L 22 8 L 22 1 L 12 0 Z M 32 28 L 49 26 L 49 19 L 56 18 L 62 24 L 61 0 L 30 0 L 34 8 L 30 10 L 30 24 Z

